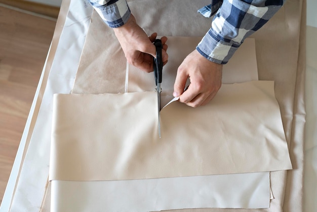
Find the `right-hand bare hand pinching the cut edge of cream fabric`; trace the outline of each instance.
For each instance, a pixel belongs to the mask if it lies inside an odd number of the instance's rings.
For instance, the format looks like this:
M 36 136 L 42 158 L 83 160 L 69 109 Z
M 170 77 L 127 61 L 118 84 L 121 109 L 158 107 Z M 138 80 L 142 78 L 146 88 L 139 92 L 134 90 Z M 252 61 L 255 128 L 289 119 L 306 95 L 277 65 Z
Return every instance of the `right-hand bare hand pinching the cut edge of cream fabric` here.
M 188 77 L 190 85 L 184 91 Z M 222 65 L 209 61 L 194 50 L 178 67 L 173 95 L 194 108 L 207 104 L 220 89 L 221 77 Z

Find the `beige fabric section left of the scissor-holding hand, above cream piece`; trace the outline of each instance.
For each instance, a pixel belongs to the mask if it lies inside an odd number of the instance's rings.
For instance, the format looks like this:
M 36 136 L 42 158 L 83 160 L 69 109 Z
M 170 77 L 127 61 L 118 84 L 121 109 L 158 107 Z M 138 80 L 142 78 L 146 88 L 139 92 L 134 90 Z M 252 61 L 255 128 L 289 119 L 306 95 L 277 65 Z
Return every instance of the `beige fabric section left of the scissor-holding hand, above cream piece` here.
M 99 17 L 95 11 L 92 16 Z M 105 24 L 98 24 L 100 22 L 102 20 L 91 19 L 73 93 L 125 92 L 126 62 L 113 60 L 125 58 L 124 52 L 113 30 Z

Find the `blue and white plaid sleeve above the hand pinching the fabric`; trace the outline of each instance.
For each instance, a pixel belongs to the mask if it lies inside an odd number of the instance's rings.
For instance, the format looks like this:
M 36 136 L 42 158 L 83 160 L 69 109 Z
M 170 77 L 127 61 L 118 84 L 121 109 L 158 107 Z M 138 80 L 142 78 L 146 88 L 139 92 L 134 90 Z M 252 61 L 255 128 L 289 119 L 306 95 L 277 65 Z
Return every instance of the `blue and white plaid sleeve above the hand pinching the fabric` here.
M 212 0 L 198 12 L 213 18 L 196 49 L 210 61 L 226 64 L 243 41 L 261 28 L 285 0 Z

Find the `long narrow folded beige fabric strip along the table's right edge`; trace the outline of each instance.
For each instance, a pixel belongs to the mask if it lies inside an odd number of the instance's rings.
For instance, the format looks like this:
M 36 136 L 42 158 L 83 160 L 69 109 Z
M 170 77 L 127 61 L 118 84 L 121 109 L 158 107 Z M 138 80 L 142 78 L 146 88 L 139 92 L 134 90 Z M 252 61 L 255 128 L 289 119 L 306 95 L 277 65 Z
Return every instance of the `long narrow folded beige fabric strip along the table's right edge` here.
M 305 108 L 305 70 L 306 70 L 306 0 L 299 4 L 301 9 L 299 29 L 299 50 L 294 95 L 294 121 L 292 124 L 289 150 L 293 171 L 288 171 L 285 190 L 284 211 L 303 210 L 303 175 L 304 175 L 304 133 L 306 122 Z

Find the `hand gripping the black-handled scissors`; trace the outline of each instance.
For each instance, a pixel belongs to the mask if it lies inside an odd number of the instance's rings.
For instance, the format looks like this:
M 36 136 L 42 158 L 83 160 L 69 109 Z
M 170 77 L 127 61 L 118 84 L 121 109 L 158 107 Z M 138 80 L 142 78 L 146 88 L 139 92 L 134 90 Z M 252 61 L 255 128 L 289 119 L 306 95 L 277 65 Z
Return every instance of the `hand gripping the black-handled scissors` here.
M 156 49 L 152 44 L 157 34 L 153 33 L 150 37 L 136 23 L 134 16 L 131 14 L 129 21 L 118 28 L 113 28 L 116 38 L 121 44 L 128 63 L 144 70 L 145 72 L 153 71 L 153 57 L 156 57 Z M 162 60 L 163 64 L 167 63 L 168 46 L 165 44 L 166 37 L 162 37 Z

